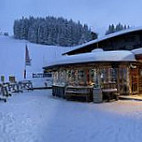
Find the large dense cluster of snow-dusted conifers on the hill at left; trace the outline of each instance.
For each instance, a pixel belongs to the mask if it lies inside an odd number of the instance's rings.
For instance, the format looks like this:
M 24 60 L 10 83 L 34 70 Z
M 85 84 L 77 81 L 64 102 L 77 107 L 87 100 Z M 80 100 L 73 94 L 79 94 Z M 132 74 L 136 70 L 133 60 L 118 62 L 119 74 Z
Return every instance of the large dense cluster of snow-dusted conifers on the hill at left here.
M 58 46 L 75 46 L 97 38 L 88 25 L 65 18 L 48 16 L 15 20 L 14 37 L 33 43 Z

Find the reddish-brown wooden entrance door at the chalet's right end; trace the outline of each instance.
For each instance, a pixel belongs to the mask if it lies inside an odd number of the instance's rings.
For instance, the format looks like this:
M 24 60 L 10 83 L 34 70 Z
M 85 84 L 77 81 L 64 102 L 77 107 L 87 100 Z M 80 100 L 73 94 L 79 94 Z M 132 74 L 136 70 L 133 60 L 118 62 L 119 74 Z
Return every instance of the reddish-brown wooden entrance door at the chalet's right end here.
M 132 94 L 138 93 L 138 69 L 131 69 L 131 88 L 132 88 Z

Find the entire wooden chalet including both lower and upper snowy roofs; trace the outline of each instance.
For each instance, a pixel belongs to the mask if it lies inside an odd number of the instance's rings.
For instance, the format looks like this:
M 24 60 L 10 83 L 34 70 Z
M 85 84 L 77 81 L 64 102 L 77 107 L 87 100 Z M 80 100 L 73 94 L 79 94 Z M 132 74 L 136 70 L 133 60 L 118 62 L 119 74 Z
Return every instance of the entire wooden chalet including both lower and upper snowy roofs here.
M 141 47 L 141 32 L 142 29 L 129 29 L 91 41 L 44 67 L 46 71 L 53 72 L 53 95 L 94 101 L 97 94 L 101 96 L 98 101 L 101 102 L 117 99 L 118 95 L 141 94 L 142 48 L 137 47 Z M 129 39 L 131 36 L 137 37 L 137 40 Z M 115 41 L 117 50 L 113 49 Z M 97 48 L 97 44 L 103 45 L 103 49 Z M 98 97 L 95 99 L 98 100 Z

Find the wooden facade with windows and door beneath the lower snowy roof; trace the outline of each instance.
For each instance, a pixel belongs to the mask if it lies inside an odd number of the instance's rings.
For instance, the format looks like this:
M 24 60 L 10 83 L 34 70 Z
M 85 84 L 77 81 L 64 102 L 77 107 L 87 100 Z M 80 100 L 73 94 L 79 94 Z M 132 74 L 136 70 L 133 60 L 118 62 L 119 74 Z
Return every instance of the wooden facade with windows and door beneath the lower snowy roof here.
M 68 93 L 75 92 L 74 94 L 78 93 L 86 98 L 93 88 L 117 89 L 119 95 L 140 94 L 142 93 L 141 63 L 99 62 L 58 66 L 53 71 L 53 95 L 67 97 L 67 95 L 65 96 L 66 87 L 69 87 Z M 81 93 L 79 88 L 86 93 Z M 87 88 L 90 91 L 87 91 Z M 72 93 L 72 96 L 74 94 Z M 91 98 L 92 94 L 86 100 L 92 101 Z

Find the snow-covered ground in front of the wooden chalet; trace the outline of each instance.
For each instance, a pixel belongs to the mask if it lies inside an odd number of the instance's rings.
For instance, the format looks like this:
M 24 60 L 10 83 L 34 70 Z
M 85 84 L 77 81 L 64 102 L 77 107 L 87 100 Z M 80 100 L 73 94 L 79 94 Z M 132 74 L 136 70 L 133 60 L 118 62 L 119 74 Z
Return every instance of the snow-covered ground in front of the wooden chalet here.
M 14 94 L 0 108 L 0 142 L 142 140 L 142 102 L 71 102 L 40 90 Z

